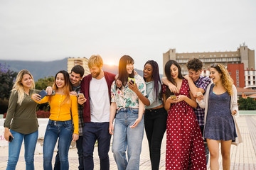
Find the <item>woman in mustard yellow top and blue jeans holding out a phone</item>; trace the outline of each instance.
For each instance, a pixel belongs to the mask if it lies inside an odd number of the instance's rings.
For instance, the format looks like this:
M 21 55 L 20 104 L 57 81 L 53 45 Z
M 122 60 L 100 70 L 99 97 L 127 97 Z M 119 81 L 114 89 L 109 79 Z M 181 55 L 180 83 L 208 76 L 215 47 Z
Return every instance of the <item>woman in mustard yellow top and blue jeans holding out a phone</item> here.
M 43 99 L 39 94 L 32 96 L 37 103 L 50 103 L 50 118 L 43 141 L 43 169 L 52 169 L 53 150 L 58 138 L 60 169 L 69 169 L 68 150 L 70 143 L 71 140 L 73 142 L 78 140 L 79 135 L 78 101 L 77 96 L 70 95 L 71 85 L 68 72 L 61 70 L 55 75 L 53 90 L 56 92 L 55 96 L 45 96 Z

